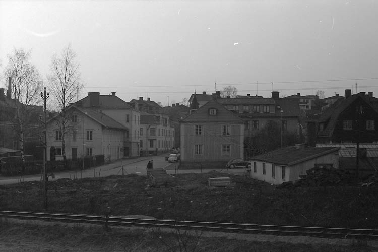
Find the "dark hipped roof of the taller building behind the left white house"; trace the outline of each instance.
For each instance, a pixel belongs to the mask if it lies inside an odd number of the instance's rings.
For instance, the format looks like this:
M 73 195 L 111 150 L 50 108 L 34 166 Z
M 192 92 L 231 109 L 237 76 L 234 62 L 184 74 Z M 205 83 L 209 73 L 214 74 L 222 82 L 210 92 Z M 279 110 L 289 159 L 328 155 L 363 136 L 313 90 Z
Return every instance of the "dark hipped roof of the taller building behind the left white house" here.
M 72 105 L 89 108 L 91 107 L 90 96 L 88 95 Z M 115 95 L 99 95 L 99 105 L 96 108 L 131 108 L 131 106 Z

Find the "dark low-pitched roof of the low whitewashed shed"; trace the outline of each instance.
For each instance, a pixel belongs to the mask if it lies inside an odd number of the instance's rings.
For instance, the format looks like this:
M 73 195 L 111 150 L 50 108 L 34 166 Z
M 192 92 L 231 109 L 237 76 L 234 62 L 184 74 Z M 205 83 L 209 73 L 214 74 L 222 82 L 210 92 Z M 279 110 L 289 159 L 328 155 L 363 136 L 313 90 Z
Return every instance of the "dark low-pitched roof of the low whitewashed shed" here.
M 294 165 L 332 152 L 338 152 L 340 147 L 304 147 L 286 146 L 268 153 L 254 156 L 251 161 L 258 160 L 278 165 Z

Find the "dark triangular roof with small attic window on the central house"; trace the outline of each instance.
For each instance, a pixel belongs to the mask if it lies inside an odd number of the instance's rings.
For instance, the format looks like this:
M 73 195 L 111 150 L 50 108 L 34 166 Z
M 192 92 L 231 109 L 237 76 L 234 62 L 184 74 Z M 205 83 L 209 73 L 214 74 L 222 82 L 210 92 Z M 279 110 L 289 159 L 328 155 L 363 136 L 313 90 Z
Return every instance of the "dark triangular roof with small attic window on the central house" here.
M 216 115 L 210 115 L 209 109 L 215 108 L 217 110 Z M 186 116 L 181 122 L 198 122 L 198 123 L 244 123 L 238 116 L 224 108 L 215 100 L 208 101 L 202 107 L 192 112 L 192 114 Z

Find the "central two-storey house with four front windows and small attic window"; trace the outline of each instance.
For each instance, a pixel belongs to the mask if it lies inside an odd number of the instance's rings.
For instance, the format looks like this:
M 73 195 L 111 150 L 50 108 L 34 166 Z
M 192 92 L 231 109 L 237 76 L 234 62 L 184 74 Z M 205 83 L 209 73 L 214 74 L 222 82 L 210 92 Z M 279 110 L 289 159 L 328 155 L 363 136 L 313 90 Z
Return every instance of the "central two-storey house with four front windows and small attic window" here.
M 244 122 L 215 100 L 182 119 L 180 128 L 180 167 L 224 167 L 231 158 L 243 158 Z

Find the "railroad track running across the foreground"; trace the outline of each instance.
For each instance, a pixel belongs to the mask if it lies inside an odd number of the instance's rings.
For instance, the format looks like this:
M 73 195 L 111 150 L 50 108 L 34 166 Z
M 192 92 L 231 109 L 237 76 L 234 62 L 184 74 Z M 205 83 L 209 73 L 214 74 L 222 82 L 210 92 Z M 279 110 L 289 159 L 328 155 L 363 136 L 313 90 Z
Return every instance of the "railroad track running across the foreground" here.
M 158 219 L 120 218 L 73 214 L 0 211 L 0 217 L 43 220 L 52 222 L 91 223 L 123 227 L 174 228 L 240 234 L 266 234 L 281 236 L 312 236 L 321 238 L 378 240 L 376 229 L 324 228 L 300 226 L 274 226 L 219 222 L 177 221 Z

